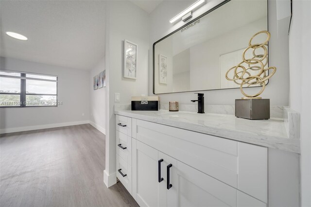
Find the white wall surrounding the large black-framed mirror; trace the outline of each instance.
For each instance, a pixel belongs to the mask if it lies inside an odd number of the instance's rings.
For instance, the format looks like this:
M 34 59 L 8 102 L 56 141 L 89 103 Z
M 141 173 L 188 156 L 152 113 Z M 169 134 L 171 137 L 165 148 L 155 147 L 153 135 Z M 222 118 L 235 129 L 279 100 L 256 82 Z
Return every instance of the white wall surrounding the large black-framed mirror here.
M 150 14 L 150 47 L 155 41 L 170 34 L 174 30 L 180 28 L 185 23 L 180 21 L 176 24 L 171 24 L 169 20 L 178 14 L 180 11 L 187 8 L 193 1 L 163 1 Z M 193 12 L 193 18 L 206 12 L 208 9 L 214 7 L 221 0 L 211 0 Z M 268 29 L 271 33 L 269 42 L 269 65 L 277 68 L 276 74 L 269 80 L 265 91 L 262 93 L 262 98 L 269 98 L 272 105 L 288 105 L 289 104 L 289 63 L 288 63 L 288 36 L 277 37 L 276 31 L 276 1 L 268 1 Z M 246 40 L 248 41 L 248 39 Z M 150 53 L 149 60 L 152 60 L 152 53 Z M 249 91 L 255 92 L 258 89 L 251 88 Z M 234 100 L 241 98 L 240 89 L 226 89 L 226 90 L 210 90 L 203 91 L 205 93 L 206 104 L 234 104 Z M 149 94 L 153 94 L 153 65 L 149 62 Z M 191 104 L 190 100 L 196 98 L 193 92 L 163 94 L 159 95 L 162 104 L 167 104 L 169 101 L 179 101 L 181 104 Z

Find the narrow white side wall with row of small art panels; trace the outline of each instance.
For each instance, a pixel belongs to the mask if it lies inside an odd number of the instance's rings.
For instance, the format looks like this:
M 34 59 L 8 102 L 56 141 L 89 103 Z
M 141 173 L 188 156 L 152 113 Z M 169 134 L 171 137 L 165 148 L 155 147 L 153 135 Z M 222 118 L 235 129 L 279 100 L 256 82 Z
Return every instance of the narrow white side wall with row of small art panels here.
M 93 77 L 105 69 L 105 57 L 89 72 L 89 123 L 106 133 L 106 87 L 93 89 Z

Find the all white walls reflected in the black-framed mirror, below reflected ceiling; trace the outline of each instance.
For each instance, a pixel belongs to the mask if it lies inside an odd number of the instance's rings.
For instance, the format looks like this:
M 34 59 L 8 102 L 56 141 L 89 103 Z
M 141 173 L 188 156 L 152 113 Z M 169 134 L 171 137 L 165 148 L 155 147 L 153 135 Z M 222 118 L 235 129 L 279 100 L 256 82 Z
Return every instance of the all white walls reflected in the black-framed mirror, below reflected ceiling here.
M 264 17 L 193 45 L 177 54 L 173 53 L 173 36 L 158 42 L 155 48 L 155 93 L 239 87 L 234 82 L 225 79 L 225 72 L 238 63 L 235 60 L 232 63 L 228 62 L 226 67 L 221 70 L 220 58 L 224 54 L 246 48 L 249 38 L 258 31 L 265 30 L 266 25 L 267 17 Z M 264 35 L 262 37 L 265 38 Z M 168 57 L 167 85 L 159 83 L 159 54 Z M 185 54 L 188 54 L 188 57 Z M 239 54 L 235 59 L 239 61 Z M 240 60 L 242 61 L 242 55 Z M 186 66 L 189 67 L 188 70 Z M 224 81 L 228 84 L 224 85 Z

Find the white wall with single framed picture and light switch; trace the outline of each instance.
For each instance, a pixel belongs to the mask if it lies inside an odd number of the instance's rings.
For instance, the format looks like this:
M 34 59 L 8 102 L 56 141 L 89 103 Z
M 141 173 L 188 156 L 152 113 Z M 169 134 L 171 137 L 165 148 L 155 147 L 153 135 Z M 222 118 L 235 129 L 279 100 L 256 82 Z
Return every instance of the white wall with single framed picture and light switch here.
M 120 103 L 130 104 L 132 96 L 148 94 L 148 13 L 130 1 L 107 1 L 106 7 L 106 161 L 104 183 L 116 183 L 116 116 L 114 93 Z M 123 41 L 138 44 L 137 79 L 122 77 Z

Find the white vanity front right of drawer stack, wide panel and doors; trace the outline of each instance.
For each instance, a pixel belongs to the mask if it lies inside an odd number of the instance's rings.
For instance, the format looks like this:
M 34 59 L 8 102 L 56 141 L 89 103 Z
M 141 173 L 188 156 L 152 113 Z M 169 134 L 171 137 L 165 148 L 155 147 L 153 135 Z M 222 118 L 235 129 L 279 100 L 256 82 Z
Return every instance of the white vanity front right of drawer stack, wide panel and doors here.
M 266 147 L 149 121 L 132 124 L 132 195 L 141 207 L 267 206 Z

